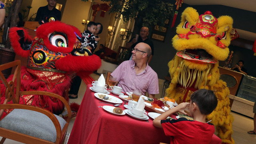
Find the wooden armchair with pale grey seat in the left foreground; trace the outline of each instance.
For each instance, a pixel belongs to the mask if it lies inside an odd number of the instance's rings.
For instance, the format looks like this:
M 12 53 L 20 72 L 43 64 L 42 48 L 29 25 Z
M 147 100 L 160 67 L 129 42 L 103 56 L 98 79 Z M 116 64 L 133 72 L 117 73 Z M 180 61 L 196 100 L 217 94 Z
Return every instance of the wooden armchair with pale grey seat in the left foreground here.
M 12 67 L 15 67 L 14 76 L 12 80 L 7 82 L 2 70 Z M 0 104 L 0 118 L 3 116 L 4 110 L 13 109 L 0 120 L 0 136 L 3 137 L 0 144 L 3 144 L 6 138 L 26 144 L 63 143 L 71 119 L 71 109 L 68 102 L 62 96 L 51 92 L 20 91 L 20 60 L 0 65 L 0 78 L 1 83 L 6 87 L 4 103 Z M 62 117 L 43 108 L 18 104 L 20 96 L 23 95 L 44 95 L 58 98 L 64 103 L 68 111 L 67 120 L 65 121 Z M 7 104 L 11 100 L 13 104 Z

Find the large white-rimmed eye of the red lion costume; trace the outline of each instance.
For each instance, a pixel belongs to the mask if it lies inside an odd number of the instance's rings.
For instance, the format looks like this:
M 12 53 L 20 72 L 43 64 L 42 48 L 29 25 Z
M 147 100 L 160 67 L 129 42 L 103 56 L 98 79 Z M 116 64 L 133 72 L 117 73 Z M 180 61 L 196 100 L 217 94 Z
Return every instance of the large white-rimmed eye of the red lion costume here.
M 49 41 L 53 46 L 68 47 L 68 38 L 61 32 L 53 32 L 49 35 Z

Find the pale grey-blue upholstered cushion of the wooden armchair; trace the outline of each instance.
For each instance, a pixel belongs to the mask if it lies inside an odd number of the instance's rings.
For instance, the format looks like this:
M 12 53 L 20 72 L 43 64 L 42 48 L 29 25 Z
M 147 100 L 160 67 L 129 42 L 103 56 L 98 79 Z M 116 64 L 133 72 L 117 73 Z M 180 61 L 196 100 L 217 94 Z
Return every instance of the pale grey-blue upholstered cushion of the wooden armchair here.
M 62 129 L 66 121 L 60 116 L 55 116 Z M 0 127 L 51 142 L 56 140 L 56 129 L 50 118 L 32 110 L 14 109 L 0 121 Z

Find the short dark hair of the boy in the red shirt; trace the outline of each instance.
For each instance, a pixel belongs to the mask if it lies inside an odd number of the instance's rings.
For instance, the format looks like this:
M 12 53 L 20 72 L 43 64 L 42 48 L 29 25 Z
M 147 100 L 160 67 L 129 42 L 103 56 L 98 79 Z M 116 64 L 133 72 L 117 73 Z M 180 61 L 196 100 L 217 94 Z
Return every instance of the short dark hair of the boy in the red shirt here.
M 218 100 L 212 90 L 200 89 L 195 91 L 190 100 L 198 105 L 201 114 L 208 115 L 216 108 Z

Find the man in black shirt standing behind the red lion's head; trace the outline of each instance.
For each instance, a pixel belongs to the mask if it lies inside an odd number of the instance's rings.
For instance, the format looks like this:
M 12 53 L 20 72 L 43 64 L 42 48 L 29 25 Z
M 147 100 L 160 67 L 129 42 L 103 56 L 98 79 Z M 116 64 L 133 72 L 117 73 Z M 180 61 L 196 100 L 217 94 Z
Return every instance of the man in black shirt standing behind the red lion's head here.
M 61 12 L 55 8 L 57 0 L 47 0 L 48 5 L 38 8 L 35 21 L 43 20 L 45 16 L 55 16 L 60 20 Z

